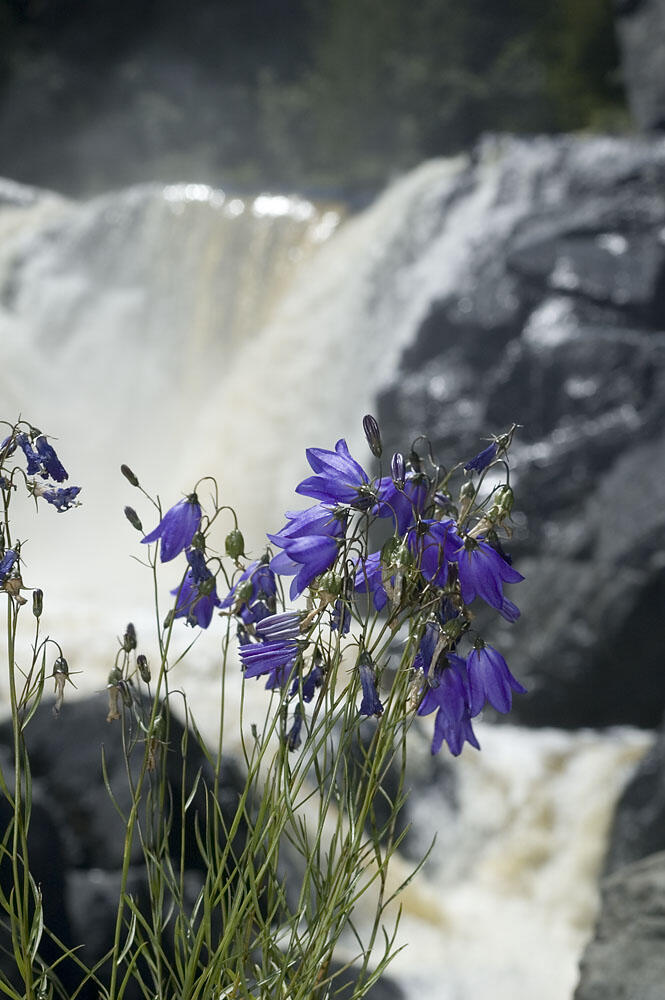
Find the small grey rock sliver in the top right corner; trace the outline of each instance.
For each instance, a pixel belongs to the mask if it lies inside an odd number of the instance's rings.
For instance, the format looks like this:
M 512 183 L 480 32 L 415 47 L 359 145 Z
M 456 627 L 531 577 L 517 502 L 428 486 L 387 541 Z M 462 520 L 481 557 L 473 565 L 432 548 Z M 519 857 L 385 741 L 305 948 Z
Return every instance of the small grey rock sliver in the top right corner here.
M 630 109 L 640 128 L 665 129 L 665 2 L 614 3 Z

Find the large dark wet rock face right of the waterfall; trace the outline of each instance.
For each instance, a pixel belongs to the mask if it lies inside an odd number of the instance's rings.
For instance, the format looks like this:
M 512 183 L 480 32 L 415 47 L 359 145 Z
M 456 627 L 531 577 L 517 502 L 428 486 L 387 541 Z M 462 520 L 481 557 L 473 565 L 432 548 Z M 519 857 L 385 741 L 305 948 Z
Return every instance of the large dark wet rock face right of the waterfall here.
M 499 150 L 482 244 L 462 286 L 433 303 L 380 400 L 386 450 L 425 425 L 449 462 L 474 455 L 488 432 L 523 425 L 509 546 L 526 576 L 509 588 L 523 618 L 492 626 L 529 688 L 513 717 L 656 726 L 665 709 L 665 143 Z M 464 197 L 484 183 L 485 155 L 463 179 Z

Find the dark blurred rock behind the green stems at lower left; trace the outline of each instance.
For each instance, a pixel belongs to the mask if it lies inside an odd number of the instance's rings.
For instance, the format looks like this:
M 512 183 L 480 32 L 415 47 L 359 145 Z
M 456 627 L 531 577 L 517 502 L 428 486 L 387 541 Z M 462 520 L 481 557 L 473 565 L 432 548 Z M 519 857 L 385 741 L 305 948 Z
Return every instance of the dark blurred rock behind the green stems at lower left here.
M 51 704 L 43 703 L 26 731 L 34 803 L 29 851 L 32 873 L 42 890 L 45 924 L 64 944 L 76 946 L 79 957 L 88 966 L 102 959 L 113 943 L 125 838 L 125 825 L 105 786 L 102 752 L 108 783 L 118 807 L 125 814 L 130 802 L 120 725 L 117 722 L 111 725 L 106 723 L 107 710 L 106 698 L 100 695 L 66 702 L 60 717 L 54 719 Z M 167 769 L 168 783 L 177 803 L 183 793 L 181 748 L 186 734 L 175 717 L 170 717 L 168 725 L 165 737 L 165 740 L 168 739 L 168 751 L 164 753 L 161 763 Z M 5 722 L 0 725 L 0 756 L 6 774 L 12 771 L 11 746 L 11 724 Z M 141 757 L 142 749 L 140 746 Z M 184 768 L 185 795 L 193 794 L 184 831 L 189 845 L 184 857 L 185 905 L 192 908 L 203 885 L 205 872 L 205 862 L 196 847 L 194 830 L 197 814 L 200 819 L 206 808 L 202 782 L 197 784 L 199 772 L 210 787 L 212 772 L 209 762 L 192 737 L 188 740 Z M 222 764 L 219 798 L 227 827 L 233 821 L 243 790 L 241 769 L 233 758 L 226 756 Z M 4 797 L 0 797 L 0 827 L 3 831 L 9 822 L 9 806 Z M 143 829 L 146 830 L 145 823 Z M 176 870 L 180 864 L 181 833 L 180 825 L 174 823 L 170 849 Z M 239 841 L 244 833 L 241 824 Z M 238 842 L 236 853 L 239 853 L 239 848 Z M 133 850 L 131 862 L 128 891 L 139 908 L 149 914 L 148 882 L 140 848 Z M 282 865 L 284 882 L 290 881 L 294 893 L 300 885 L 301 863 L 302 859 L 287 856 Z M 11 888 L 11 872 L 6 860 L 0 864 L 0 888 L 4 892 Z M 213 914 L 213 924 L 214 919 Z M 221 927 L 217 932 L 221 933 Z M 162 945 L 167 957 L 173 957 L 168 926 Z M 13 979 L 16 974 L 14 962 L 3 952 L 4 948 L 11 949 L 11 942 L 4 928 L 0 928 L 0 969 Z M 44 935 L 40 953 L 45 961 L 51 962 L 55 962 L 60 955 L 48 935 Z M 142 972 L 149 981 L 147 966 Z M 73 995 L 76 990 L 81 1000 L 98 1000 L 98 990 L 92 984 L 79 989 L 81 975 L 74 962 L 61 962 L 58 973 L 66 993 Z M 107 973 L 107 967 L 102 966 L 99 970 L 102 982 L 107 981 Z M 337 983 L 339 996 L 350 997 L 354 982 L 353 969 L 347 969 Z M 20 982 L 17 981 L 16 986 L 20 989 Z M 124 996 L 127 1000 L 140 1000 L 144 993 L 132 981 Z M 370 1000 L 401 1000 L 403 993 L 389 977 L 384 977 L 367 996 Z

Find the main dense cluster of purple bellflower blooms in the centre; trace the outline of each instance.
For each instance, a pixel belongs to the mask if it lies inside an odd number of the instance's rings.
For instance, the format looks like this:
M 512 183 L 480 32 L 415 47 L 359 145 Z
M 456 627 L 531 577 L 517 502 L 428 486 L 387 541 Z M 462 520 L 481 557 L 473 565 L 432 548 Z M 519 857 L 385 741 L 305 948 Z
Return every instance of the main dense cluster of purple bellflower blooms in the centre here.
M 284 733 L 289 747 L 299 745 L 304 703 L 326 683 L 331 660 L 342 655 L 342 640 L 354 656 L 359 714 L 382 715 L 380 680 L 397 637 L 404 649 L 398 669 L 411 679 L 412 711 L 436 713 L 432 753 L 446 742 L 457 755 L 465 742 L 479 746 L 472 719 L 486 704 L 508 712 L 512 693 L 525 691 L 501 653 L 475 630 L 472 608 L 482 601 L 509 622 L 519 617 L 504 585 L 523 577 L 501 542 L 510 536 L 507 452 L 515 427 L 450 469 L 434 461 L 421 439 L 408 458 L 392 456 L 388 475 L 381 474 L 381 436 L 373 417 L 365 418 L 364 429 L 379 459 L 378 474 L 371 477 L 343 439 L 333 450 L 308 449 L 313 475 L 296 493 L 317 502 L 289 511 L 281 530 L 267 536 L 272 547 L 247 564 L 240 559 L 242 536 L 237 529 L 229 536 L 227 552 L 238 573 L 222 600 L 205 559 L 195 493 L 172 507 L 143 541 L 159 540 L 163 561 L 185 551 L 189 568 L 173 591 L 174 617 L 207 628 L 215 608 L 235 616 L 244 676 L 265 677 L 266 688 L 278 689 L 293 704 L 293 725 Z M 497 482 L 499 471 L 505 481 Z M 455 475 L 462 482 L 454 500 Z M 380 534 L 383 544 L 370 546 Z M 304 595 L 305 609 L 284 605 L 284 577 L 291 578 L 290 600 Z

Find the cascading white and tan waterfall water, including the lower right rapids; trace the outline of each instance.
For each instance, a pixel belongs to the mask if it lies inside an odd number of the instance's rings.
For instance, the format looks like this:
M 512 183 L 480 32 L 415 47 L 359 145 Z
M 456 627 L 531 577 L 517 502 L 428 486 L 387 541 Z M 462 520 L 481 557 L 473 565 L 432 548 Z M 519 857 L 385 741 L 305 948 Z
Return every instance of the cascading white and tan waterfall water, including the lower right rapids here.
M 342 225 L 332 206 L 202 185 L 86 204 L 0 186 L 0 416 L 56 435 L 84 488 L 66 515 L 25 506 L 24 575 L 46 591 L 82 689 L 105 683 L 127 620 L 149 628 L 122 507 L 152 524 L 120 463 L 166 505 L 215 474 L 258 549 L 297 506 L 306 446 L 345 436 L 364 454 L 362 415 L 402 348 L 463 285 L 488 228 L 528 210 L 548 155 L 525 147 L 501 198 L 491 157 L 472 182 L 464 161 L 425 164 Z M 208 731 L 212 632 L 182 681 Z M 260 710 L 260 685 L 253 696 Z M 479 732 L 483 752 L 455 764 L 459 812 L 436 789 L 414 805 L 423 840 L 438 828 L 439 842 L 405 894 L 394 974 L 420 1000 L 569 1000 L 611 808 L 646 738 Z

